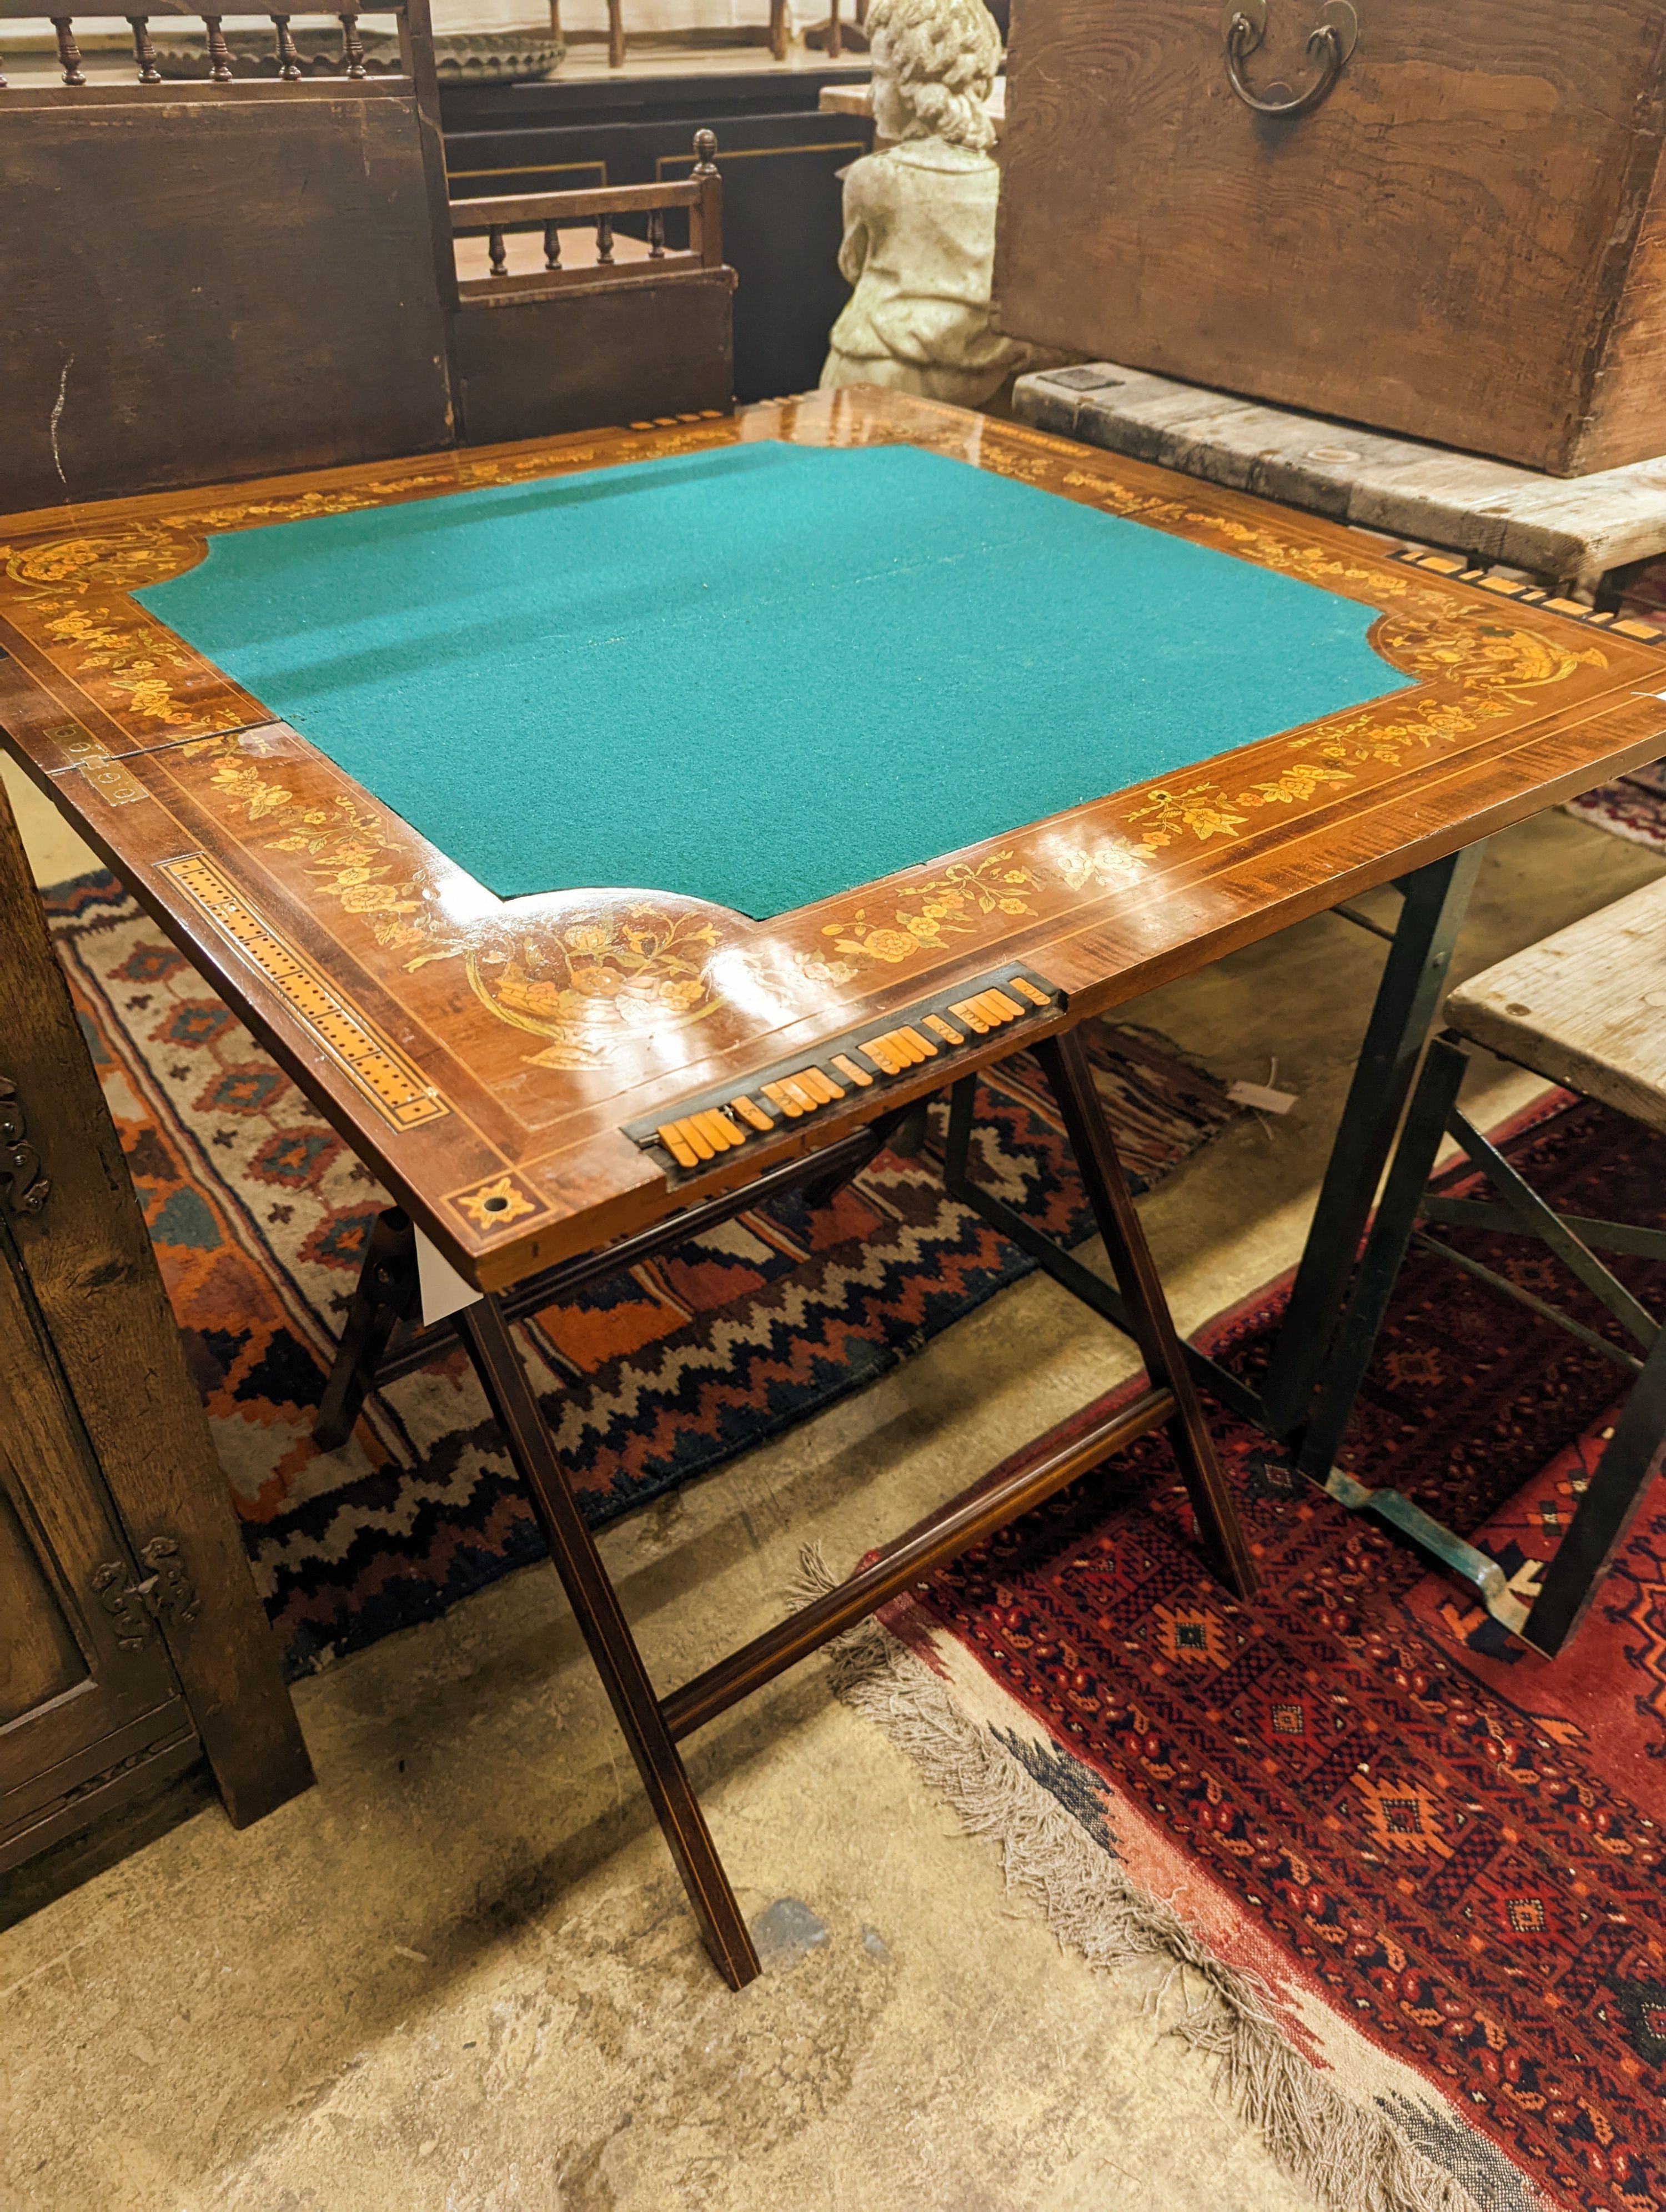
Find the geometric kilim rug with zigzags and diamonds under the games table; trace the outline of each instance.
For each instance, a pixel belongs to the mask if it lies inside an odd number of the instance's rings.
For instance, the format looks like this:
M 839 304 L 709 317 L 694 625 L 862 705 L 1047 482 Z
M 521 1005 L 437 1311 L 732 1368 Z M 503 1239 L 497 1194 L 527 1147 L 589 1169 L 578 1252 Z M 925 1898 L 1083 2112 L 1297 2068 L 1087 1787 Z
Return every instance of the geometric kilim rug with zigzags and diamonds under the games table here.
M 387 1199 L 115 878 L 46 909 L 290 1677 L 542 1557 L 462 1352 L 376 1394 L 341 1451 L 312 1442 Z M 1162 1040 L 1089 1024 L 1089 1051 L 1135 1188 L 1241 1113 Z M 1038 1228 L 1086 1234 L 1027 1060 L 982 1086 L 978 1148 Z M 546 1307 L 522 1345 L 600 1526 L 872 1383 L 1031 1265 L 929 1157 L 881 1155 L 832 1206 L 739 1214 Z

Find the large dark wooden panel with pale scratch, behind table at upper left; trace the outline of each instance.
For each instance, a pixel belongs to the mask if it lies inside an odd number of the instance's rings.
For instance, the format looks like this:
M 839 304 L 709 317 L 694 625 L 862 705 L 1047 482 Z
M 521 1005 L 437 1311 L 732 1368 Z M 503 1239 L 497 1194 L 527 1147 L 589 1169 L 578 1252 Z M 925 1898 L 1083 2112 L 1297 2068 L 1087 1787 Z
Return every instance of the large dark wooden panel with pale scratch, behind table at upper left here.
M 9 106 L 2 175 L 0 507 L 449 442 L 414 97 Z

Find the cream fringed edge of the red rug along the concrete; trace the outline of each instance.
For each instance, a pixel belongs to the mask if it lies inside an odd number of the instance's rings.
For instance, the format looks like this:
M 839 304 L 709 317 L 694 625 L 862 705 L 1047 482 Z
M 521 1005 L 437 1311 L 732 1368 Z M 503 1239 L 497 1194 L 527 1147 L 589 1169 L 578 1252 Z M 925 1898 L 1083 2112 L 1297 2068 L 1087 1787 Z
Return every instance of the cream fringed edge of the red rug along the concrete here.
M 799 1559 L 794 1599 L 834 1588 L 819 1546 Z M 1283 2172 L 1334 2212 L 1480 2212 L 1451 2174 L 1387 2115 L 1345 2097 L 1290 2046 L 1252 1978 L 1224 1966 L 1186 1922 L 1126 1878 L 1016 1759 L 989 1741 L 938 1677 L 878 1621 L 827 1646 L 832 1688 L 876 1721 L 954 1805 L 998 1845 L 1007 1887 L 1093 1966 L 1168 1960 L 1186 2011 L 1168 2031 L 1219 2066 L 1219 2086 Z

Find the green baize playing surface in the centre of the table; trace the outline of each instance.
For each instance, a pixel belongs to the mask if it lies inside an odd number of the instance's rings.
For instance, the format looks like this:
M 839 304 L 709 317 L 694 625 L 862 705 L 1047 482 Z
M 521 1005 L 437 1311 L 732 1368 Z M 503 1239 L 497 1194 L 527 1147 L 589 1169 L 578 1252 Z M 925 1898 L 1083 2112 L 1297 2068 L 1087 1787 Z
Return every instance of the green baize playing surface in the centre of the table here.
M 1407 684 L 1367 606 L 909 445 L 228 531 L 137 597 L 500 898 L 757 918 Z

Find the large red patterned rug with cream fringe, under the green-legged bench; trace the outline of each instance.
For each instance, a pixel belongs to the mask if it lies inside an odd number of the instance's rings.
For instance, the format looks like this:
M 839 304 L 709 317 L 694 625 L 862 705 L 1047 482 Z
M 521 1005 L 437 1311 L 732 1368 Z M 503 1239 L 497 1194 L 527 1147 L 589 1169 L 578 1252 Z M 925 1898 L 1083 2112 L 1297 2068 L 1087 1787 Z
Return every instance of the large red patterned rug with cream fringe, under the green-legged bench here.
M 1604 1108 L 1509 1150 L 1573 1212 L 1666 1223 L 1666 1139 Z M 1538 1245 L 1462 1243 L 1608 1327 Z M 1666 1270 L 1624 1272 L 1659 1310 Z M 1283 1292 L 1217 1327 L 1239 1371 Z M 1531 1595 L 1622 1387 L 1414 1254 L 1345 1460 Z M 1252 1604 L 1199 1571 L 1148 1438 L 889 1608 L 843 1692 L 1064 1940 L 1184 1964 L 1177 2031 L 1321 2203 L 1666 2205 L 1666 1491 L 1551 1663 L 1266 1438 L 1217 1436 Z

